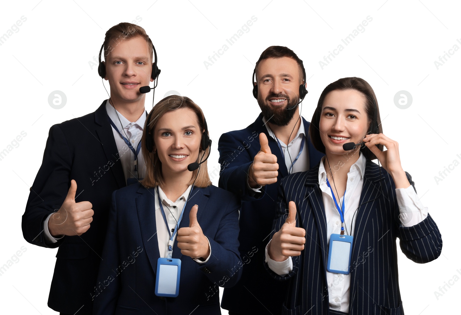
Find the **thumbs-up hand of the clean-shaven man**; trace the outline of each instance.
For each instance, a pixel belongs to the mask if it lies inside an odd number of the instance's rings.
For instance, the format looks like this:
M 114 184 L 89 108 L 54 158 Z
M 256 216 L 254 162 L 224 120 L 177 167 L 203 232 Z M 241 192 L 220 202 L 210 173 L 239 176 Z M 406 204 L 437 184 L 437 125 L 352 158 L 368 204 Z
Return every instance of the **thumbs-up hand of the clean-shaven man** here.
M 75 202 L 76 192 L 77 182 L 72 180 L 63 204 L 48 220 L 48 231 L 52 236 L 82 235 L 93 222 L 93 205 L 89 201 Z

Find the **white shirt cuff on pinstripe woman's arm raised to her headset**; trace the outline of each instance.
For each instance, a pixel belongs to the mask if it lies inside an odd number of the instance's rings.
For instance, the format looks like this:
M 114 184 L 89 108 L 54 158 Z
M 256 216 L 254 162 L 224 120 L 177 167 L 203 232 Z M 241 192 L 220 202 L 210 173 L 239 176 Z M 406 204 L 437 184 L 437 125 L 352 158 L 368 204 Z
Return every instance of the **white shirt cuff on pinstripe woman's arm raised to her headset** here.
M 412 227 L 423 222 L 427 217 L 427 207 L 421 203 L 413 186 L 396 188 L 400 222 L 404 227 Z

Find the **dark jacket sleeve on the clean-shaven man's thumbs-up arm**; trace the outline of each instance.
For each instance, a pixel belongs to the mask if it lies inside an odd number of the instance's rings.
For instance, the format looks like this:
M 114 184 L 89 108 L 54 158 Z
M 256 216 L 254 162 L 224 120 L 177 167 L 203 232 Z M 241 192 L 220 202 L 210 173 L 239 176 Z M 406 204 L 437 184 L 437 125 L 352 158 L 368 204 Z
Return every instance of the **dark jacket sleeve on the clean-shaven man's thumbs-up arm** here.
M 50 128 L 45 152 L 22 217 L 24 239 L 34 245 L 56 248 L 43 235 L 43 222 L 50 213 L 59 210 L 71 186 L 72 159 L 69 145 L 59 125 Z M 78 183 L 77 183 L 78 185 Z

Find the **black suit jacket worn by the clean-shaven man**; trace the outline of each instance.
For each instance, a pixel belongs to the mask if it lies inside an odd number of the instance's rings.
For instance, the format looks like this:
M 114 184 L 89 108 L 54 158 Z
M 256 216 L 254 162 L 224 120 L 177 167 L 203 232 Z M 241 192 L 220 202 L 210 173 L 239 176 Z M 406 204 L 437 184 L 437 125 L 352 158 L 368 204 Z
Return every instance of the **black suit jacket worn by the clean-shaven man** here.
M 60 208 L 72 179 L 77 182 L 75 201 L 93 204 L 93 222 L 81 236 L 65 236 L 57 243 L 47 243 L 43 221 Z M 91 292 L 101 260 L 111 194 L 124 186 L 106 100 L 95 112 L 50 128 L 22 219 L 24 239 L 29 243 L 48 248 L 59 246 L 48 298 L 50 308 L 67 314 L 81 308 L 79 315 L 91 314 Z

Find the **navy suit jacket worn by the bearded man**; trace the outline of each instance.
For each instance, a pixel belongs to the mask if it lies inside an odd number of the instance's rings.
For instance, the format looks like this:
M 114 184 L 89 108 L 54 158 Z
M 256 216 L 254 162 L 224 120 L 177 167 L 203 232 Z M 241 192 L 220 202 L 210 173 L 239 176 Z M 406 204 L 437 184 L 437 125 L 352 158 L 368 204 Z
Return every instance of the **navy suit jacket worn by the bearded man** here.
M 245 268 L 242 280 L 231 289 L 224 290 L 222 307 L 243 314 L 279 314 L 286 292 L 286 285 L 272 279 L 261 263 L 276 215 L 277 187 L 280 180 L 288 175 L 277 141 L 267 133 L 262 117 L 261 113 L 245 129 L 221 135 L 218 145 L 221 164 L 219 187 L 236 193 L 244 201 L 240 211 L 239 251 Z M 309 122 L 302 118 L 302 123 L 307 133 Z M 271 152 L 277 156 L 278 183 L 266 185 L 262 188 L 263 193 L 252 197 L 247 191 L 247 172 L 260 151 L 261 132 L 266 134 Z M 315 150 L 308 137 L 304 150 L 309 153 L 309 168 L 319 163 L 324 155 Z

